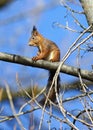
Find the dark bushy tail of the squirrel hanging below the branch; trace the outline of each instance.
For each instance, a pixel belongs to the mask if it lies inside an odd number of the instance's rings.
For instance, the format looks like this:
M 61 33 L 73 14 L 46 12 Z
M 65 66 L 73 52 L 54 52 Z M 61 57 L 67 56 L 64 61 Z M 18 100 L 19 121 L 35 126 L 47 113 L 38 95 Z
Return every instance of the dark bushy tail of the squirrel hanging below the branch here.
M 49 99 L 54 102 L 56 100 L 56 93 L 55 93 L 55 84 L 53 84 L 51 91 L 49 91 L 51 85 L 52 85 L 52 81 L 53 81 L 53 77 L 55 75 L 55 71 L 49 71 L 49 78 L 48 78 L 48 84 L 46 87 L 46 96 L 49 93 Z M 60 88 L 60 76 L 58 75 L 57 77 L 57 93 L 59 94 L 59 88 Z M 44 97 L 43 99 L 41 99 L 41 101 L 39 102 L 41 105 L 44 105 L 46 100 L 46 97 Z

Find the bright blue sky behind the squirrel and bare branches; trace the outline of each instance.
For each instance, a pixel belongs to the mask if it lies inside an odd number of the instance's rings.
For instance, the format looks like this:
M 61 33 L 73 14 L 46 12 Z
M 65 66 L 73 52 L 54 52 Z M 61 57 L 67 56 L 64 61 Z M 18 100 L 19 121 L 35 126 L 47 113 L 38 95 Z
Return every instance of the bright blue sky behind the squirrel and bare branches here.
M 35 10 L 36 8 L 42 9 L 39 7 L 43 7 L 50 2 L 52 2 L 52 0 L 17 0 L 6 8 L 0 10 L 0 52 L 17 54 L 29 58 L 35 56 L 37 49 L 29 47 L 28 41 L 32 27 L 33 25 L 36 25 L 37 29 L 43 36 L 54 41 L 59 46 L 62 58 L 67 52 L 69 46 L 79 36 L 79 33 L 73 33 L 63 28 L 59 28 L 58 26 L 55 26 L 54 23 L 57 22 L 64 26 L 68 24 L 70 28 L 78 31 L 81 31 L 82 29 L 75 24 L 74 19 L 71 17 L 71 13 L 60 5 L 60 0 L 55 1 L 56 4 L 52 8 L 47 9 L 48 6 L 46 6 L 46 9 Z M 81 6 L 77 3 L 71 3 L 69 5 L 77 11 L 82 11 Z M 85 27 L 88 26 L 85 16 L 80 14 L 75 14 L 75 16 Z M 82 47 L 86 48 L 85 45 Z M 82 54 L 83 51 L 80 52 L 80 55 Z M 78 51 L 74 52 L 68 58 L 66 64 L 77 67 L 77 55 Z M 80 58 L 80 66 L 82 69 L 91 70 L 92 57 L 92 53 L 86 53 L 82 59 Z M 23 87 L 31 85 L 32 81 L 36 85 L 42 87 L 46 86 L 48 77 L 47 71 L 0 61 L 1 85 L 4 85 L 4 81 L 6 80 L 10 85 L 10 88 L 18 90 L 16 84 L 16 73 L 18 73 Z M 78 78 L 73 76 L 61 74 L 62 83 L 68 83 L 77 79 Z M 75 93 L 78 94 L 76 91 Z M 65 96 L 71 96 L 73 94 L 73 92 L 70 92 Z M 69 103 L 69 105 L 71 106 L 72 103 Z M 76 104 L 73 104 L 73 108 L 75 108 L 75 105 Z M 78 105 L 78 107 L 80 106 Z M 56 123 L 55 126 L 57 126 Z

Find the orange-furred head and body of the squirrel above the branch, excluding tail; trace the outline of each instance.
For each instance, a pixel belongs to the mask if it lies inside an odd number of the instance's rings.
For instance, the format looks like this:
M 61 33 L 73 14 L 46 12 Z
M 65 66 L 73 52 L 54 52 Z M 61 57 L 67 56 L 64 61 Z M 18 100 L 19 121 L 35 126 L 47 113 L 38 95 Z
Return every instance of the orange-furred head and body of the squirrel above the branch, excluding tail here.
M 38 47 L 37 56 L 32 58 L 34 61 L 44 59 L 56 62 L 60 60 L 60 50 L 57 45 L 44 38 L 36 28 L 32 31 L 29 45 Z

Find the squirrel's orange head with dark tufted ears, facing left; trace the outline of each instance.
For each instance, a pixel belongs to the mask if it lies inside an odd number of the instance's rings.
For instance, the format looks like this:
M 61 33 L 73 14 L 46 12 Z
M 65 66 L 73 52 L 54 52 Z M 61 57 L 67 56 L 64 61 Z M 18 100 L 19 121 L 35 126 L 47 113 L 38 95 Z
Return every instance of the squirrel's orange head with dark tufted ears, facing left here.
M 42 40 L 42 35 L 37 31 L 36 26 L 33 26 L 29 46 L 39 46 Z

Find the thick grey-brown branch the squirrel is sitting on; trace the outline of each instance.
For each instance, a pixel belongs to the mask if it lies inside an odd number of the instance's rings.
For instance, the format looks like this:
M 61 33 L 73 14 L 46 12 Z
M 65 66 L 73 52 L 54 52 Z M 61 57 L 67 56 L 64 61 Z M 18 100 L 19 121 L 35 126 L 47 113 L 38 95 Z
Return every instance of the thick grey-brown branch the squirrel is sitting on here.
M 59 62 L 48 62 L 44 60 L 39 60 L 37 62 L 33 62 L 32 59 L 15 55 L 15 54 L 8 54 L 8 53 L 2 53 L 0 52 L 0 60 L 11 62 L 11 63 L 17 63 L 25 66 L 32 66 L 32 67 L 38 67 L 43 68 L 46 70 L 56 70 L 59 66 Z M 80 68 L 76 68 L 73 66 L 63 65 L 61 67 L 60 72 L 66 73 L 75 77 L 78 77 L 78 72 L 80 72 L 81 77 L 93 81 L 93 72 L 88 70 L 82 70 Z

